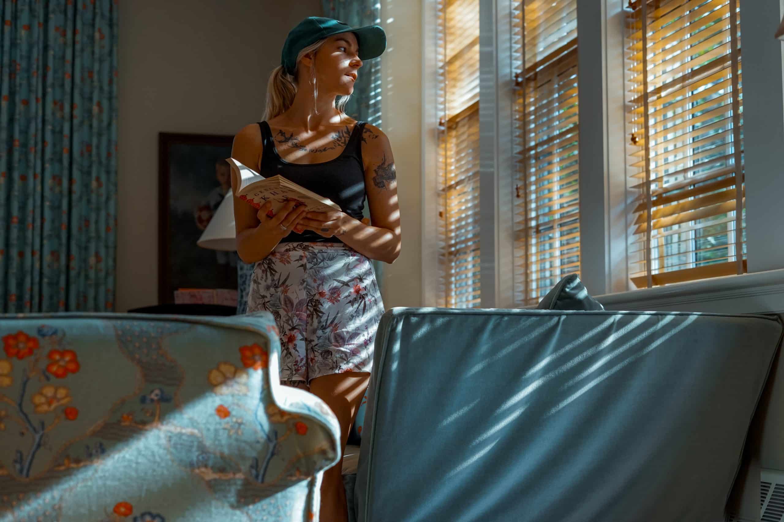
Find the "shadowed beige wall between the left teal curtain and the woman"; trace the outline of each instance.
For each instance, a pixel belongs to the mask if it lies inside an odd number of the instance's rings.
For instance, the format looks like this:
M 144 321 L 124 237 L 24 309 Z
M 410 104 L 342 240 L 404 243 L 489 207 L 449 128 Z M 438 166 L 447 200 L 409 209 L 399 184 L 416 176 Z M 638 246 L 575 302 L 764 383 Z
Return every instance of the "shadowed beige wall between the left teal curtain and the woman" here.
M 117 311 L 158 302 L 158 132 L 259 121 L 286 34 L 311 15 L 319 0 L 120 2 Z

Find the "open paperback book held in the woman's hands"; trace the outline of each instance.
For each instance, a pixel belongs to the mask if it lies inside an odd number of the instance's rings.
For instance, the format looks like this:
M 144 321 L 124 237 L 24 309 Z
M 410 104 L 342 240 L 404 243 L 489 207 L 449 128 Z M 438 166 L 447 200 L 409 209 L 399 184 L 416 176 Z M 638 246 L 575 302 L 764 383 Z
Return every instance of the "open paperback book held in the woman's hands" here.
M 232 174 L 236 176 L 237 197 L 247 201 L 253 207 L 259 208 L 267 201 L 272 202 L 272 208 L 267 213 L 270 218 L 278 214 L 285 203 L 294 200 L 296 207 L 307 205 L 309 212 L 329 212 L 341 210 L 339 205 L 325 197 L 312 193 L 303 186 L 297 185 L 288 179 L 277 175 L 264 178 L 252 168 L 245 167 L 232 157 L 226 158 L 231 167 Z

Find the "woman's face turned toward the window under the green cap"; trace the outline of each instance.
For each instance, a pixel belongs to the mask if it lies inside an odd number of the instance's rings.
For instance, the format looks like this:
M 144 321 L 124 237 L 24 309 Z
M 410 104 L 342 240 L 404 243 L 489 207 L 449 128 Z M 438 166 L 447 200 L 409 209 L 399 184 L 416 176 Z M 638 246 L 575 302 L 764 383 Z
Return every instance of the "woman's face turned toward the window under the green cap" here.
M 316 52 L 316 81 L 318 91 L 347 96 L 354 92 L 354 81 L 362 60 L 354 33 L 336 34 L 325 41 Z

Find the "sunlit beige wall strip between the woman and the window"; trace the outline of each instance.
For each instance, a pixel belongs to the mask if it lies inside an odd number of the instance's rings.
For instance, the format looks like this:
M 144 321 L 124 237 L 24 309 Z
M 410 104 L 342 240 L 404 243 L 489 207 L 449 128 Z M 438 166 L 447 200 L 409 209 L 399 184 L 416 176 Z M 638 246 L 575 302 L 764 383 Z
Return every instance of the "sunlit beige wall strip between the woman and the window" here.
M 397 169 L 403 242 L 383 272 L 386 308 L 422 304 L 422 0 L 381 0 L 382 128 Z

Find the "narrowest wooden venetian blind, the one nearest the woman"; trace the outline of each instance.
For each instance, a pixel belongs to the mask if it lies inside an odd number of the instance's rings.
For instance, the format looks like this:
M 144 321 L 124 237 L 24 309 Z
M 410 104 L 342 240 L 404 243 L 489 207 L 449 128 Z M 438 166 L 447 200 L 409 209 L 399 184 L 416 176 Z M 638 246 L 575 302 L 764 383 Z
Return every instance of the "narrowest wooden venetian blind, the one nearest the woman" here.
M 441 304 L 472 308 L 479 293 L 479 2 L 441 0 L 438 180 Z

